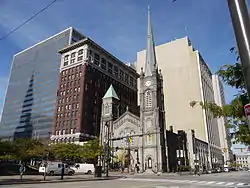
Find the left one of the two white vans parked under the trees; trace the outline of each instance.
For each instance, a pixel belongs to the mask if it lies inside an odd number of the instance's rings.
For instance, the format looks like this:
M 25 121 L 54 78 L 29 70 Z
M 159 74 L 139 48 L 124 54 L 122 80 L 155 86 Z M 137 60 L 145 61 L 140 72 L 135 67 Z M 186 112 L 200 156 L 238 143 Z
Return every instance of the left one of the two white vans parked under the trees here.
M 75 171 L 69 167 L 68 164 L 62 163 L 62 162 L 48 162 L 47 165 L 44 163 L 41 164 L 39 167 L 39 173 L 44 174 L 46 171 L 46 174 L 53 176 L 53 175 L 60 175 L 61 174 L 61 168 L 62 165 L 64 165 L 64 174 L 65 175 L 73 175 Z

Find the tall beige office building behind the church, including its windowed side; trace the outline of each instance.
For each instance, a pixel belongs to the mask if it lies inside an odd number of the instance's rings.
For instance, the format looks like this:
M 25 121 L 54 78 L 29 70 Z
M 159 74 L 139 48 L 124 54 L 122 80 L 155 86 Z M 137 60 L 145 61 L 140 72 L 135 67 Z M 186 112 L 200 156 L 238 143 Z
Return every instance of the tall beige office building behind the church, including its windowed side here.
M 209 143 L 210 167 L 222 164 L 217 120 L 201 107 L 190 106 L 194 100 L 214 102 L 212 73 L 207 64 L 187 37 L 158 45 L 155 53 L 164 79 L 166 127 L 173 126 L 175 132 L 195 130 L 196 138 Z M 145 50 L 137 53 L 138 72 L 144 64 Z

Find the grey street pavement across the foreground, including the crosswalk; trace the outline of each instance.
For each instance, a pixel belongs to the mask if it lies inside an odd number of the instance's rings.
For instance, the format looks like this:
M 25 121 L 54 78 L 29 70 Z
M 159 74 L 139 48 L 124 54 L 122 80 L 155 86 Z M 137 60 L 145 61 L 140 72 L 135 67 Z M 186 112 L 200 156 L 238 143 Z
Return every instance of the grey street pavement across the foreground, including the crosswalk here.
M 4 188 L 198 188 L 242 187 L 249 183 L 249 172 L 230 172 L 201 176 L 128 175 L 126 178 L 100 181 L 57 182 L 39 184 L 2 185 Z M 245 186 L 246 187 L 246 186 Z

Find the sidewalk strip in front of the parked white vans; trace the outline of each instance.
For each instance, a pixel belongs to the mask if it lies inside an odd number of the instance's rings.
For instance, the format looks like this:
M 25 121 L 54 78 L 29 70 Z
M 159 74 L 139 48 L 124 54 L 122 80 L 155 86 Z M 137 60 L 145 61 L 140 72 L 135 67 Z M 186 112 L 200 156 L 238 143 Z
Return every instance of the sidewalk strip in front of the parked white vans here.
M 64 176 L 63 180 L 60 176 L 46 176 L 43 180 L 42 175 L 24 175 L 23 179 L 20 176 L 0 176 L 0 185 L 13 185 L 13 184 L 38 184 L 38 183 L 58 183 L 58 182 L 77 182 L 77 181 L 101 181 L 113 180 L 121 178 L 122 176 L 109 176 L 109 177 L 94 177 L 94 175 L 73 175 Z

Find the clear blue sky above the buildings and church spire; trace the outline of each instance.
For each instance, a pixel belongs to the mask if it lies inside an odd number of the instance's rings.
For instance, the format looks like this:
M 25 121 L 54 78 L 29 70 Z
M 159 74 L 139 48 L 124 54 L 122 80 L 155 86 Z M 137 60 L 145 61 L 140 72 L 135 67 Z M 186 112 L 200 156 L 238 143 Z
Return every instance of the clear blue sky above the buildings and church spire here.
M 0 37 L 51 1 L 1 0 Z M 223 64 L 234 62 L 235 56 L 229 49 L 235 46 L 235 39 L 225 0 L 174 3 L 172 0 L 58 0 L 0 41 L 0 109 L 13 55 L 69 26 L 90 36 L 119 59 L 135 61 L 136 52 L 146 46 L 148 5 L 156 44 L 188 35 L 213 72 Z M 225 91 L 230 101 L 235 91 L 228 87 Z

